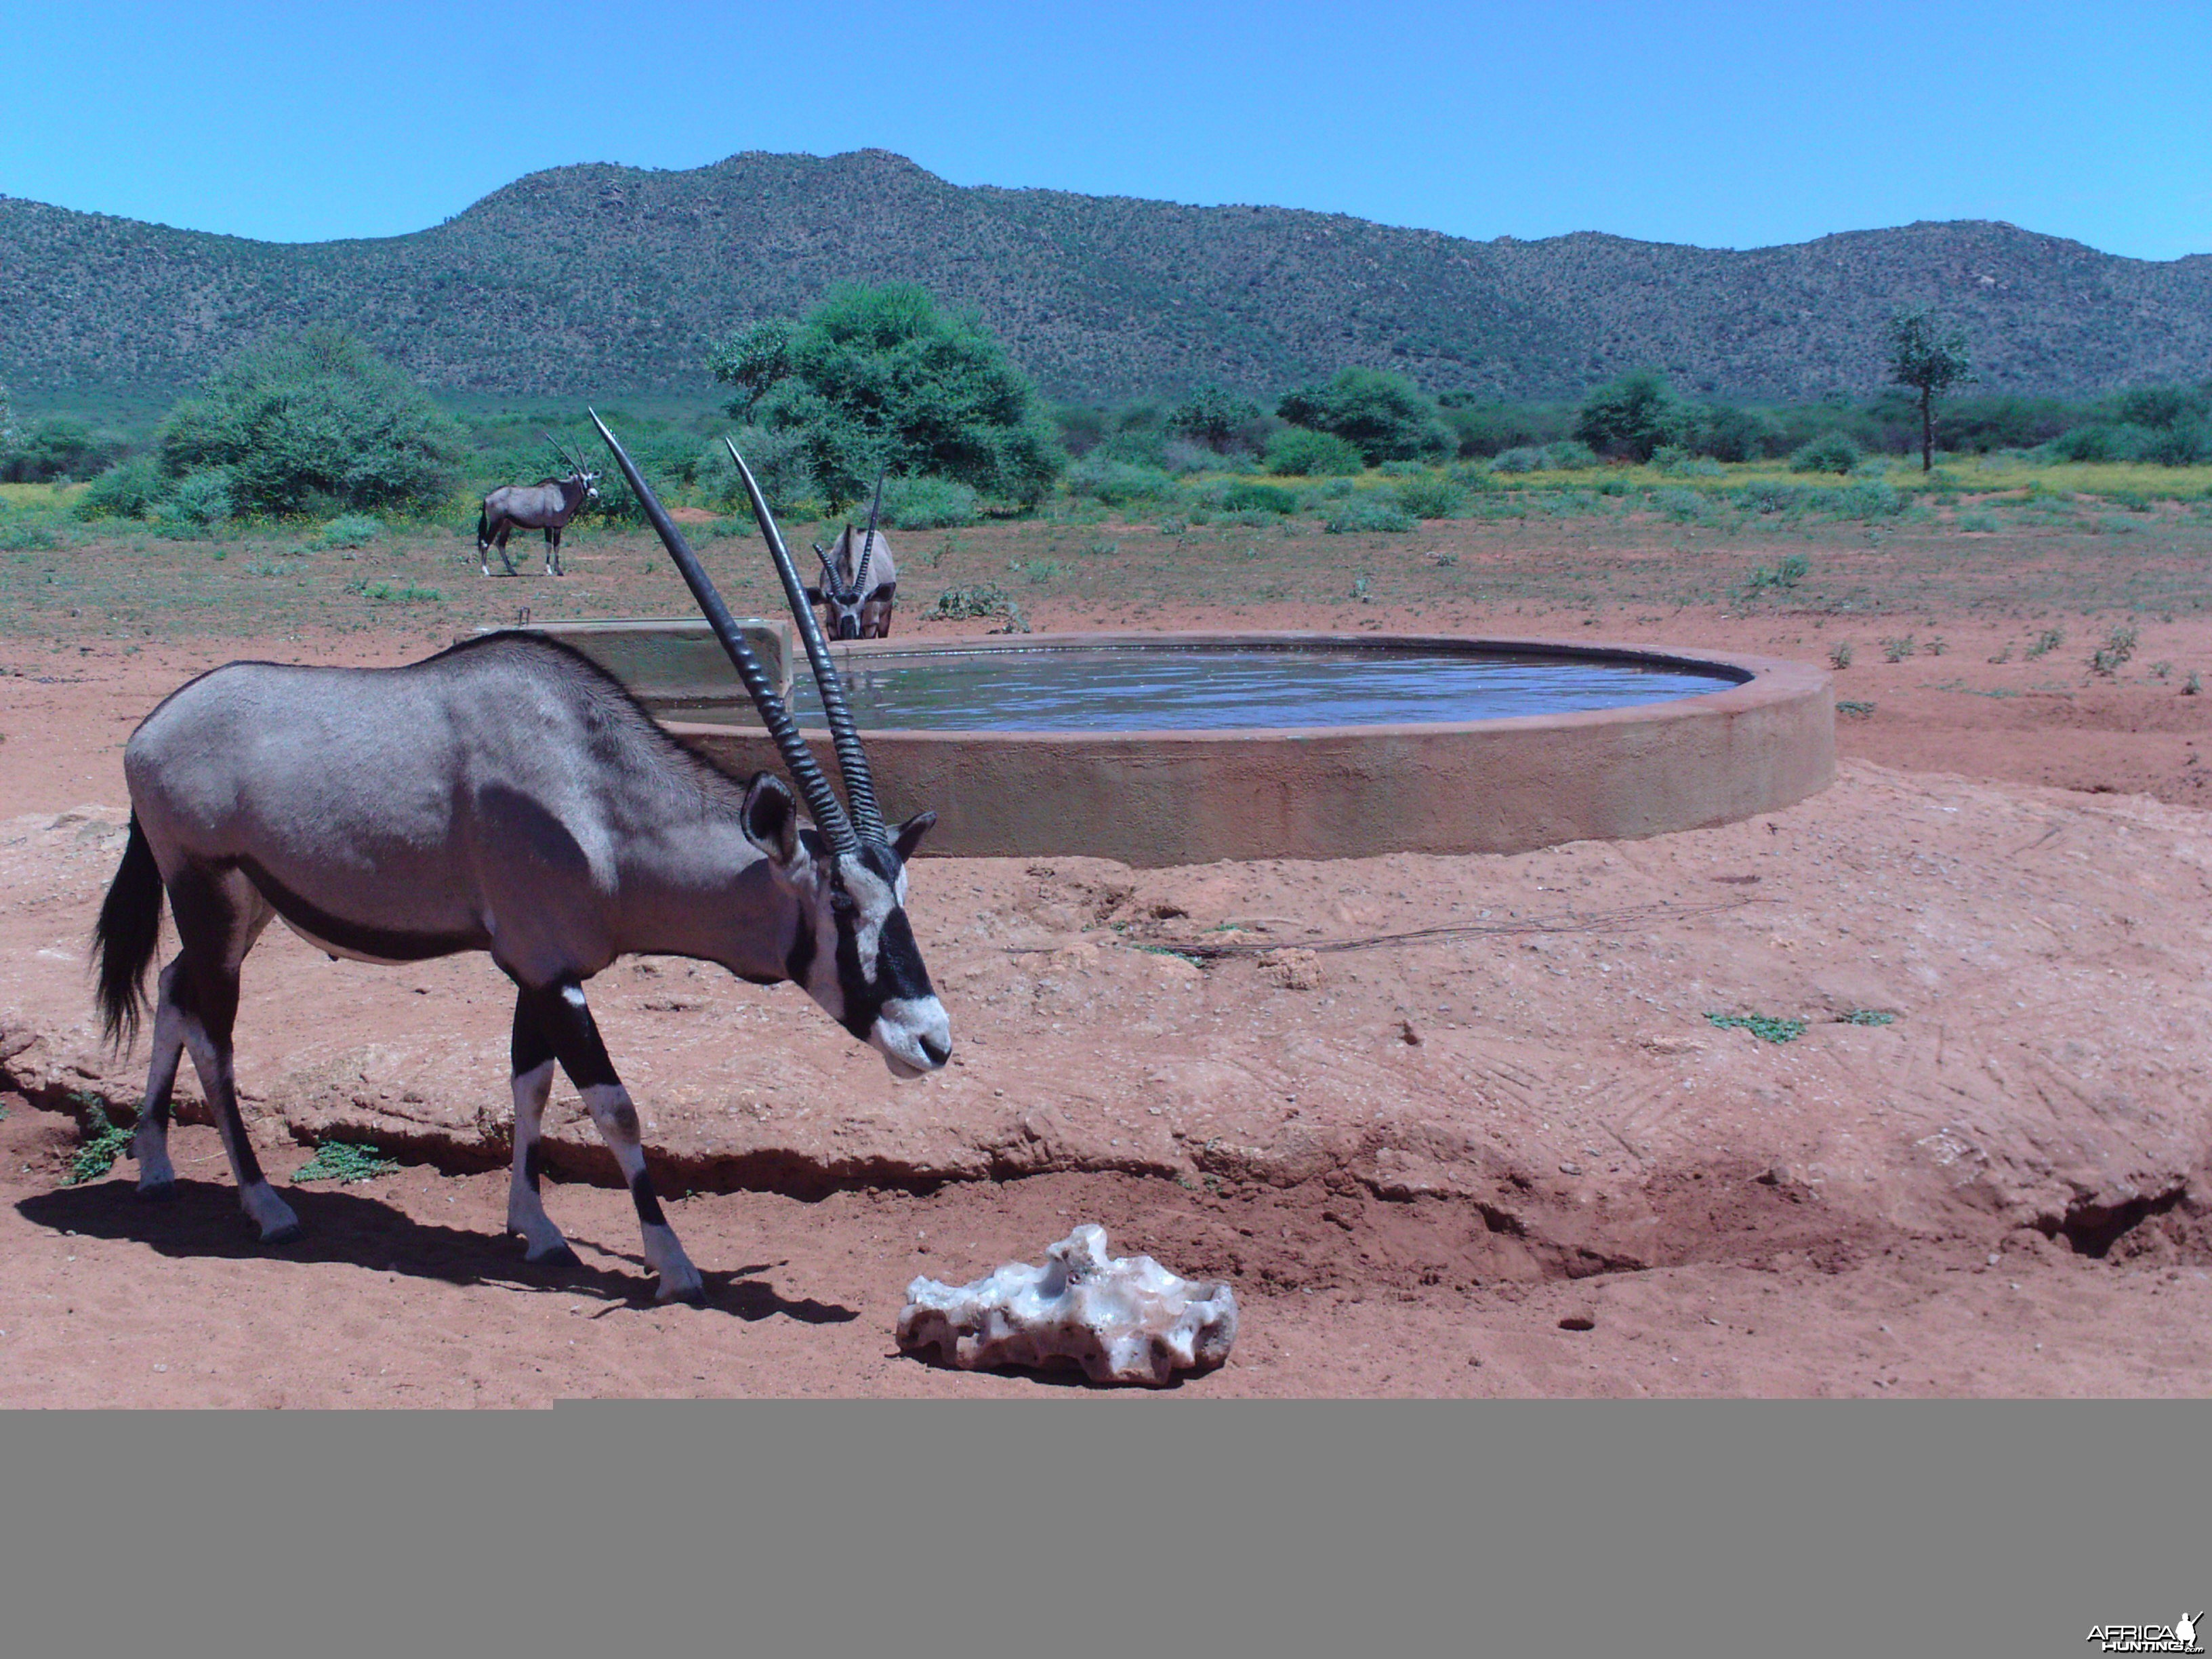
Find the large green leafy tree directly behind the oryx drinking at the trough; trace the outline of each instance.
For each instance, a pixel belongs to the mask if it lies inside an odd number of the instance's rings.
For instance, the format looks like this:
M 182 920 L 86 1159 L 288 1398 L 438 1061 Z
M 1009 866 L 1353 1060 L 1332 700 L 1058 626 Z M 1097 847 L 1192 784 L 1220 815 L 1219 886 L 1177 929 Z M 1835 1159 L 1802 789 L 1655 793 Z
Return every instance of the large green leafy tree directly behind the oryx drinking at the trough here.
M 940 312 L 916 283 L 832 290 L 792 330 L 787 363 L 759 422 L 805 436 L 832 513 L 878 467 L 1033 504 L 1066 465 L 1029 376 L 973 312 Z

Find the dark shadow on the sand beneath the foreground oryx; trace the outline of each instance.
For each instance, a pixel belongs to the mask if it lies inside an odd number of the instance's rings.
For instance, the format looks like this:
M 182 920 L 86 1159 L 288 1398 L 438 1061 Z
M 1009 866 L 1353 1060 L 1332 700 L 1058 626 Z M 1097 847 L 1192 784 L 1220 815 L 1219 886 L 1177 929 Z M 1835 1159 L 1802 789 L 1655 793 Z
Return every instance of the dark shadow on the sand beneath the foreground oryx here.
M 630 1263 L 630 1272 L 584 1261 L 533 1265 L 522 1261 L 522 1241 L 478 1228 L 418 1221 L 383 1199 L 345 1190 L 288 1188 L 285 1201 L 299 1212 L 301 1237 L 285 1245 L 254 1241 L 239 1194 L 221 1181 L 177 1181 L 173 1203 L 139 1203 L 128 1181 L 93 1181 L 55 1188 L 22 1199 L 15 1212 L 40 1228 L 69 1230 L 86 1239 L 126 1239 L 164 1256 L 259 1261 L 327 1261 L 365 1272 L 409 1274 L 447 1285 L 507 1285 L 553 1290 L 564 1296 L 597 1296 L 626 1307 L 657 1307 L 655 1279 L 644 1261 L 606 1252 Z M 588 1245 L 588 1241 L 586 1241 Z M 790 1301 L 754 1274 L 781 1263 L 752 1263 L 728 1272 L 703 1272 L 706 1305 L 743 1321 L 796 1318 L 803 1325 L 843 1325 L 858 1310 L 812 1298 Z

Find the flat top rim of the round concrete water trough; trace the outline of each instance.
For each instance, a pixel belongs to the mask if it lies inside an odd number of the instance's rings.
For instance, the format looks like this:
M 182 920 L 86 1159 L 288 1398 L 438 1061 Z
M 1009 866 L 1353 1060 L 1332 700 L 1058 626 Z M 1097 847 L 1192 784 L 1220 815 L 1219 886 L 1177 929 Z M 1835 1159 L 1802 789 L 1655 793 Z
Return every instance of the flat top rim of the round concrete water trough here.
M 1500 714 L 1482 721 L 1394 721 L 1385 726 L 1159 726 L 1159 728 L 1113 728 L 1106 732 L 1082 732 L 1066 728 L 933 728 L 933 726 L 863 726 L 867 743 L 898 743 L 927 739 L 931 743 L 989 741 L 989 743 L 1254 743 L 1254 741 L 1298 741 L 1334 737 L 1413 737 L 1453 732 L 1509 732 L 1533 728 L 1588 728 L 1648 719 L 1690 719 L 1705 714 L 1732 714 L 1770 703 L 1785 703 L 1798 697 L 1818 695 L 1827 684 L 1827 670 L 1787 657 L 1752 657 L 1719 650 L 1683 650 L 1677 646 L 1635 646 L 1593 639 L 1524 639 L 1509 635 L 1358 635 L 1358 633 L 1040 633 L 1013 637 L 967 637 L 942 644 L 914 644 L 889 639 L 845 641 L 830 646 L 832 659 L 843 666 L 847 659 L 867 657 L 914 657 L 914 655 L 984 655 L 984 653 L 1029 653 L 1029 650 L 1097 650 L 1097 648 L 1144 648 L 1144 650 L 1374 650 L 1374 653 L 1495 653 L 1515 657 L 1584 657 L 1601 661 L 1635 661 L 1652 668 L 1690 668 L 1717 672 L 1734 679 L 1710 692 L 1668 697 L 1657 703 L 1621 703 L 1619 708 L 1584 708 L 1564 714 Z M 664 717 L 675 734 L 750 730 L 728 721 L 679 721 Z M 805 734 L 827 739 L 825 726 L 805 726 Z

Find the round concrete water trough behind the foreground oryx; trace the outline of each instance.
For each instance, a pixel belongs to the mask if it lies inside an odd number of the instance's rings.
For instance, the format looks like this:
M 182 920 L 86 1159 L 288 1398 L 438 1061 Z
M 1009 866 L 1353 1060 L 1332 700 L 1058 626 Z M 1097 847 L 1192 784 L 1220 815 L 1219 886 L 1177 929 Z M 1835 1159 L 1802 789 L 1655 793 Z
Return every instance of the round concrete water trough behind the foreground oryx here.
M 1816 794 L 1836 768 L 1829 677 L 1772 657 L 1314 633 L 1026 635 L 945 646 L 887 639 L 834 650 L 841 672 L 860 692 L 856 708 L 885 814 L 898 821 L 933 807 L 938 827 L 925 843 L 931 854 L 1088 854 L 1157 867 L 1217 858 L 1528 852 L 1562 841 L 1657 836 L 1747 818 Z M 1644 695 L 1657 701 L 1500 719 L 1190 728 L 1157 717 L 1150 730 L 1113 730 L 1104 712 L 1086 714 L 1102 706 L 1084 701 L 1077 688 L 1068 697 L 1073 712 L 1053 719 L 1062 730 L 869 723 L 869 679 L 900 666 L 960 659 L 960 670 L 989 688 L 995 679 L 1033 677 L 1040 666 L 1048 670 L 1055 655 L 1073 664 L 1097 661 L 1099 653 L 1139 668 L 1172 668 L 1177 653 L 1186 666 L 1219 664 L 1221 653 L 1263 653 L 1310 664 L 1367 659 L 1405 668 L 1462 659 L 1509 670 L 1617 668 L 1628 679 L 1668 679 L 1652 681 L 1657 690 L 1646 688 Z M 805 664 L 799 664 L 801 688 L 805 679 Z M 633 690 L 648 706 L 655 701 L 650 686 Z M 1035 699 L 1024 706 L 1035 708 Z M 1365 708 L 1376 706 L 1367 701 Z M 701 708 L 688 697 L 661 714 L 675 737 L 739 776 L 779 770 L 768 734 L 748 719 L 750 708 Z M 1035 717 L 1015 712 L 1011 719 Z M 1128 712 L 1113 719 L 1128 719 Z M 823 765 L 832 765 L 825 732 L 814 734 L 814 745 Z

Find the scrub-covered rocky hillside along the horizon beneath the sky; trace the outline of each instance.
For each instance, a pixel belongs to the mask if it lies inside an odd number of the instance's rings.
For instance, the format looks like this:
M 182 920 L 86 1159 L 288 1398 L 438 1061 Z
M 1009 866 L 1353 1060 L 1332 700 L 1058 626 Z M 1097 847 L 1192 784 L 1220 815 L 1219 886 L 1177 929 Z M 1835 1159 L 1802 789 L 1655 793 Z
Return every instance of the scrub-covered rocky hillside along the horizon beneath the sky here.
M 1431 389 L 1577 394 L 1655 363 L 1681 385 L 1809 398 L 1880 380 L 1898 303 L 1960 316 L 1984 389 L 2081 394 L 2212 374 L 2212 254 L 2117 259 L 2008 223 L 1916 223 L 1723 252 L 1595 232 L 1462 241 L 1290 208 L 958 188 L 858 150 L 690 173 L 533 173 L 376 241 L 261 243 L 0 197 L 0 383 L 146 396 L 257 334 L 336 321 L 431 385 L 703 389 L 726 330 L 841 279 L 978 307 L 1057 396 L 1345 363 Z

